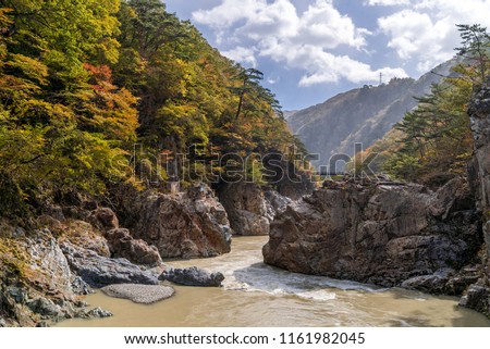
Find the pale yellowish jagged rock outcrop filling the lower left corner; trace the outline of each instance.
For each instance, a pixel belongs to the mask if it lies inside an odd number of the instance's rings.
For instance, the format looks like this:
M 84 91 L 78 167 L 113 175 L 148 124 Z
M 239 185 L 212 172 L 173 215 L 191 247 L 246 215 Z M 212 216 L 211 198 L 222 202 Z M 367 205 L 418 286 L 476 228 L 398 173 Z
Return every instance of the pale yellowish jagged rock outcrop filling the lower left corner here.
M 49 326 L 109 314 L 78 300 L 89 288 L 73 275 L 48 228 L 24 230 L 0 222 L 0 326 Z

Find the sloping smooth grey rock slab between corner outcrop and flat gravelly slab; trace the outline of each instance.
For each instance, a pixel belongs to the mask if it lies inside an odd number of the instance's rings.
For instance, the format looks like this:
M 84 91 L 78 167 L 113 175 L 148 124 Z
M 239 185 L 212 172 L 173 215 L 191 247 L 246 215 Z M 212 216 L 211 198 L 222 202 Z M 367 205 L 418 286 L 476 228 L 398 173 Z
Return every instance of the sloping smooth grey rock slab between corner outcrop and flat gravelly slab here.
M 61 249 L 74 273 L 91 287 L 103 287 L 111 284 L 146 284 L 157 285 L 158 279 L 151 273 L 126 259 L 111 259 L 94 251 L 63 242 Z

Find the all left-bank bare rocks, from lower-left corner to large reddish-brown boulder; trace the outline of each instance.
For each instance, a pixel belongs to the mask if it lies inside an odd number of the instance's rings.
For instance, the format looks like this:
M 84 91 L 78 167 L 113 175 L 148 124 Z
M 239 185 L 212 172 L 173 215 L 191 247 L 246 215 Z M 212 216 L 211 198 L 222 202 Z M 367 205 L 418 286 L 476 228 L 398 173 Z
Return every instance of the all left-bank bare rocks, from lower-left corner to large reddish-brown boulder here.
M 88 309 L 79 296 L 113 284 L 157 285 L 161 255 L 230 251 L 226 213 L 207 187 L 131 199 L 131 229 L 111 209 L 76 195 L 45 203 L 37 217 L 0 220 L 0 327 L 110 316 Z

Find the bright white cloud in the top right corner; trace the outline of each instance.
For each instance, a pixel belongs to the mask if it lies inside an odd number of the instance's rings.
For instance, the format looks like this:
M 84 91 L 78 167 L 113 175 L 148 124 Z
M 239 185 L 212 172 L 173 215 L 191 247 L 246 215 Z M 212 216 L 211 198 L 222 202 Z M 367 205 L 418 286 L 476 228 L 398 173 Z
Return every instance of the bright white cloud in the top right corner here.
M 456 24 L 490 26 L 489 12 L 490 0 L 415 0 L 411 9 L 379 18 L 378 25 L 390 38 L 388 46 L 401 59 L 415 60 L 422 73 L 454 55 Z

